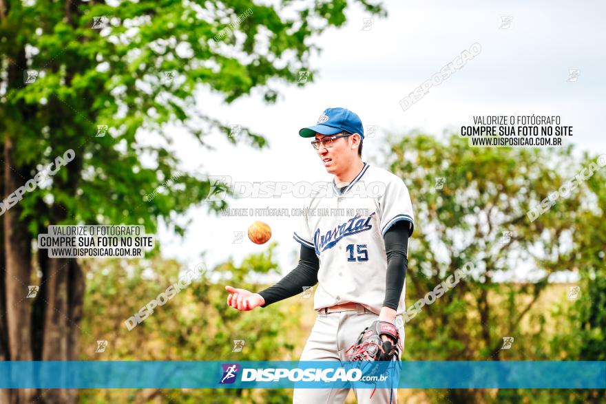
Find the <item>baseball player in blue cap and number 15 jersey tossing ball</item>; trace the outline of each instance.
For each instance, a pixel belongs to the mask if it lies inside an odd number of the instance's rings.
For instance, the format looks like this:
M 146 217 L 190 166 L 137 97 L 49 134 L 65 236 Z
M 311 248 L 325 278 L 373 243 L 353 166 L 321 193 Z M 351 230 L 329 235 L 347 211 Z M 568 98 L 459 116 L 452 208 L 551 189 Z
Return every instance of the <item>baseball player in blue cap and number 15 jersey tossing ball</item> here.
M 293 235 L 301 244 L 297 267 L 259 293 L 226 286 L 227 304 L 238 310 L 266 307 L 317 284 L 317 318 L 301 361 L 399 364 L 408 237 L 414 228 L 406 184 L 362 161 L 364 127 L 348 109 L 324 110 L 316 125 L 299 134 L 314 138 L 317 156 L 333 175 L 331 192 L 315 193 L 306 205 L 308 214 Z M 331 214 L 320 214 L 326 212 Z M 293 403 L 343 403 L 348 390 L 295 388 Z M 396 388 L 354 387 L 354 392 L 358 403 L 396 402 Z

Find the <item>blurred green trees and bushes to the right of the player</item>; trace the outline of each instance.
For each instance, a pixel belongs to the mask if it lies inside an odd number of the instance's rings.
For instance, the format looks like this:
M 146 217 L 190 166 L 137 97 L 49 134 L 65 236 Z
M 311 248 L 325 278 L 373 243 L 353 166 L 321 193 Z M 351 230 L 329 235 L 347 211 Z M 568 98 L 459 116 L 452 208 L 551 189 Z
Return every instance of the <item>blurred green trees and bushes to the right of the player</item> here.
M 393 139 L 390 151 L 390 171 L 406 182 L 415 209 L 408 306 L 466 262 L 476 268 L 408 322 L 406 345 L 414 349 L 405 349 L 405 360 L 603 360 L 603 170 L 534 222 L 526 215 L 595 156 L 575 158 L 570 147 L 471 148 L 458 136 L 440 141 L 419 133 Z M 443 189 L 435 189 L 437 177 L 446 178 Z M 512 232 L 510 241 L 501 242 L 503 231 Z M 584 279 L 581 301 L 567 300 L 566 286 L 548 286 L 563 270 Z M 501 350 L 503 337 L 514 337 L 510 350 Z M 535 402 L 534 393 L 505 390 L 495 402 Z M 441 393 L 428 394 L 438 401 Z M 541 393 L 536 402 L 558 394 Z M 454 403 L 491 397 L 448 392 Z

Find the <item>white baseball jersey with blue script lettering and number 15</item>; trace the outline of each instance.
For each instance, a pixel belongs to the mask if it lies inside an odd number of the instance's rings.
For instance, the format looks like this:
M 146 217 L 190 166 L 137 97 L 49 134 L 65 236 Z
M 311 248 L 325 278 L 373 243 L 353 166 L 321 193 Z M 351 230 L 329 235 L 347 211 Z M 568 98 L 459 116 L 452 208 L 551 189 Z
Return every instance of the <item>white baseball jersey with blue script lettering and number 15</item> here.
M 400 220 L 409 222 L 410 234 L 414 228 L 404 181 L 364 163 L 343 193 L 333 180 L 332 189 L 312 195 L 306 208 L 293 237 L 320 260 L 315 310 L 355 302 L 379 314 L 387 275 L 383 236 Z M 406 310 L 405 291 L 406 284 L 397 315 Z

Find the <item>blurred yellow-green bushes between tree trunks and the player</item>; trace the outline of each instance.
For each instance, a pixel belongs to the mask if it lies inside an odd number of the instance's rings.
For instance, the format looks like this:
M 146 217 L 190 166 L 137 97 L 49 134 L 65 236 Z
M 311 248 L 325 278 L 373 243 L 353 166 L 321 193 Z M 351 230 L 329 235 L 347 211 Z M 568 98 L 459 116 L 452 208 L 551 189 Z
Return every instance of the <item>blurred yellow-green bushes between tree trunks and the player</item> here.
M 240 312 L 227 306 L 224 283 L 260 290 L 248 277 L 275 273 L 273 246 L 267 253 L 244 259 L 241 266 L 229 259 L 181 290 L 164 306 L 158 307 L 132 331 L 124 321 L 148 301 L 178 280 L 185 268 L 171 260 L 154 257 L 139 262 L 119 260 L 101 264 L 91 261 L 87 268 L 85 321 L 82 360 L 139 361 L 295 361 L 292 333 L 298 330 L 302 306 L 276 304 Z M 211 279 L 213 279 L 211 281 Z M 298 335 L 296 340 L 304 336 Z M 242 352 L 231 352 L 234 339 L 244 339 Z M 96 340 L 107 340 L 104 354 L 95 354 Z M 87 390 L 85 403 L 101 398 L 112 402 L 136 402 L 160 394 L 162 401 L 180 403 L 274 402 L 292 400 L 288 390 Z M 213 401 L 208 401 L 212 396 Z

